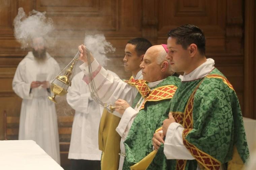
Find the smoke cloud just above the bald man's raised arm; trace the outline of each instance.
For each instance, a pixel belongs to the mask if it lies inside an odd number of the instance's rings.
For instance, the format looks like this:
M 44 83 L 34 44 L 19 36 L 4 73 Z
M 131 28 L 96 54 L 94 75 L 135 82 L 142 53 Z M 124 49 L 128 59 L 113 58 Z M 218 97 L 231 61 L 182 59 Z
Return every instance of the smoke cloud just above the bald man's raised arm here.
M 109 60 L 106 54 L 116 51 L 116 48 L 106 41 L 103 34 L 85 35 L 84 44 L 102 66 L 106 66 L 107 60 Z

